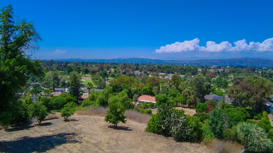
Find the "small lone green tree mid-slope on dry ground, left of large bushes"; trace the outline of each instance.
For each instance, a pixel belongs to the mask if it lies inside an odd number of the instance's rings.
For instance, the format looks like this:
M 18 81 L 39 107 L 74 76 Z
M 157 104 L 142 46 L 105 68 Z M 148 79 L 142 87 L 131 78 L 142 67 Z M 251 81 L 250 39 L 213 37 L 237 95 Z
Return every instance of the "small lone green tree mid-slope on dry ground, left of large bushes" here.
M 115 126 L 117 127 L 117 124 L 119 122 L 126 122 L 126 116 L 124 115 L 124 113 L 125 108 L 120 102 L 110 102 L 109 110 L 107 111 L 107 114 L 105 116 L 105 121 L 115 124 Z

